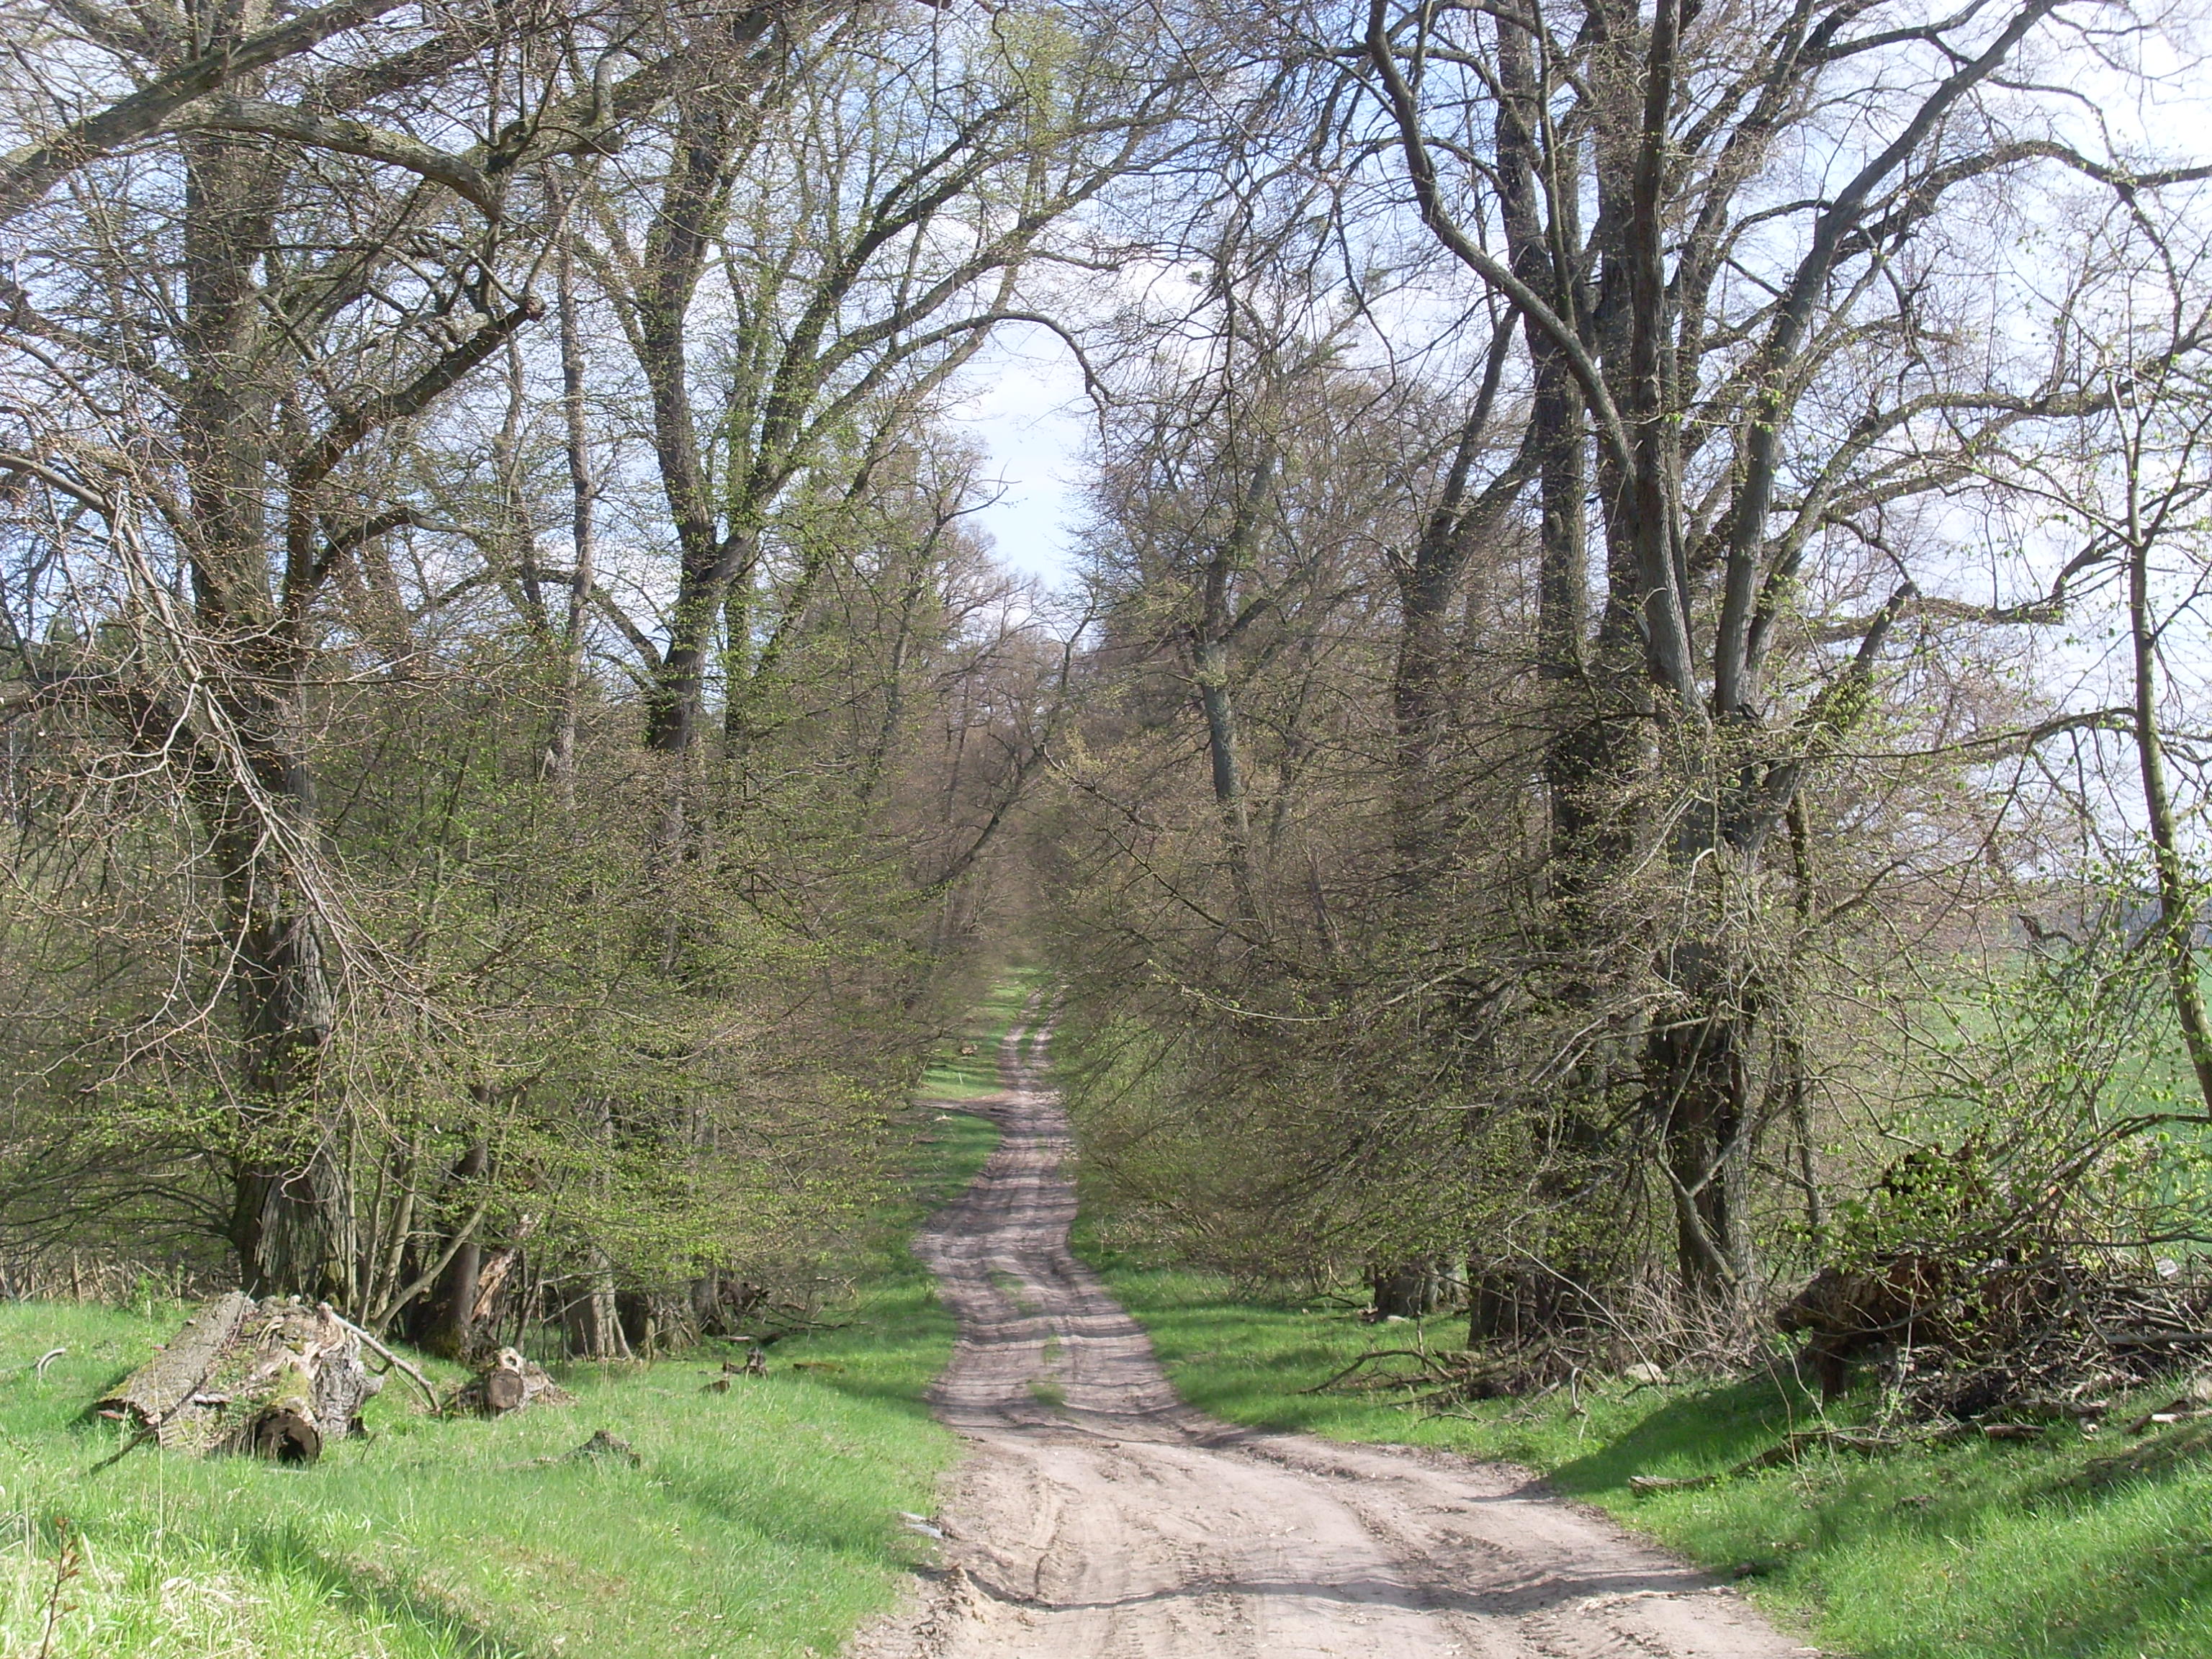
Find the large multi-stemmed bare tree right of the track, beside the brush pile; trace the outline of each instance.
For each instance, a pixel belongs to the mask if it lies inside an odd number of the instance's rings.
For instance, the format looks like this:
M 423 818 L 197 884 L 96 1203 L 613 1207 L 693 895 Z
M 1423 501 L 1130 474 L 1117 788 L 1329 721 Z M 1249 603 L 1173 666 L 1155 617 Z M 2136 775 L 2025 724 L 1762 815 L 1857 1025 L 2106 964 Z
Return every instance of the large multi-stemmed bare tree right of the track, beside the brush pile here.
M 1555 622 L 1540 655 L 1568 688 L 1553 856 L 1575 885 L 1617 887 L 1626 863 L 1679 894 L 1681 920 L 1650 940 L 1644 1115 L 1703 1298 L 1750 1270 L 1752 1033 L 1774 1015 L 1752 949 L 1761 856 L 1922 597 L 1891 526 L 2017 422 L 2081 407 L 2033 363 L 1989 374 L 1933 345 L 1995 325 L 1944 314 L 1964 204 L 2112 173 L 2044 137 L 2013 91 L 2011 66 L 2073 15 L 1367 13 L 1363 71 L 1413 206 L 1528 334 Z M 1814 139 L 1823 177 L 1798 188 L 1785 137 L 1816 131 L 1845 82 L 1878 91 Z M 1606 577 L 1586 644 L 1566 635 L 1584 431 Z M 1905 564 L 1851 650 L 1792 688 L 1776 653 L 1816 586 L 1807 560 L 1854 542 Z

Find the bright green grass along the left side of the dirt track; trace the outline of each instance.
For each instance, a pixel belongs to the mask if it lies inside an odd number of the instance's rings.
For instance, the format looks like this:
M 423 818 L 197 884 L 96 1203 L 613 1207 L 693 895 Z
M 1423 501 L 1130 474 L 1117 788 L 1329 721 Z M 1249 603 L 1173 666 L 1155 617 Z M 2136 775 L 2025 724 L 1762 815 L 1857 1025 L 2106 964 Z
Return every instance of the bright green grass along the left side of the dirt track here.
M 916 1214 L 995 1141 L 969 1115 L 929 1130 Z M 571 1367 L 573 1407 L 440 1422 L 394 1376 L 374 1440 L 314 1469 L 142 1449 L 88 1475 L 117 1429 L 84 1405 L 184 1312 L 0 1307 L 0 1652 L 42 1652 L 53 1606 L 55 1659 L 830 1655 L 896 1595 L 918 1544 L 898 1511 L 927 1511 L 956 1453 L 922 1402 L 951 1318 L 902 1234 L 841 1329 L 726 1394 L 701 1391 L 710 1352 Z M 641 1467 L 538 1462 L 593 1429 Z

